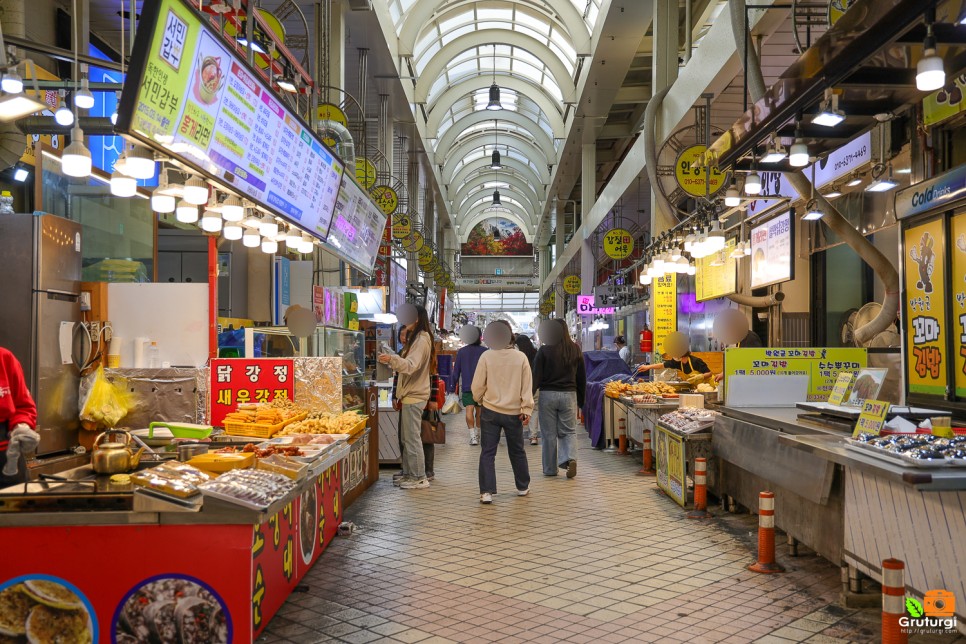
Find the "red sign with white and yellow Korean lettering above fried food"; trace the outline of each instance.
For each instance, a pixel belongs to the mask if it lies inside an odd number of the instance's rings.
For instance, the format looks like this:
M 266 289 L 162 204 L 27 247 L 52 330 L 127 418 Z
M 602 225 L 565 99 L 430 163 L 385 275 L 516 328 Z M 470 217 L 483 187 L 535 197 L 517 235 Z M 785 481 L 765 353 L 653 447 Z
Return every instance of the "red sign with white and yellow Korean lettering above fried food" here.
M 211 398 L 208 422 L 222 426 L 239 404 L 271 402 L 295 397 L 292 360 L 275 358 L 219 358 L 211 361 Z

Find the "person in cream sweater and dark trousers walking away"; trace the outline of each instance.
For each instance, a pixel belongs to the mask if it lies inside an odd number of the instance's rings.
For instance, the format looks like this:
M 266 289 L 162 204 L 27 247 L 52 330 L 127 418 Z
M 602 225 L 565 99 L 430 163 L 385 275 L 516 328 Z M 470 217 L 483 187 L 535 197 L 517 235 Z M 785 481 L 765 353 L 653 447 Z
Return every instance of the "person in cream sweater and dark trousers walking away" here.
M 496 450 L 506 436 L 517 496 L 530 494 L 530 466 L 523 447 L 523 426 L 533 413 L 533 382 L 526 355 L 511 342 L 513 331 L 504 320 L 491 322 L 483 334 L 490 350 L 480 357 L 473 376 L 473 397 L 483 407 L 480 431 L 480 503 L 496 494 Z

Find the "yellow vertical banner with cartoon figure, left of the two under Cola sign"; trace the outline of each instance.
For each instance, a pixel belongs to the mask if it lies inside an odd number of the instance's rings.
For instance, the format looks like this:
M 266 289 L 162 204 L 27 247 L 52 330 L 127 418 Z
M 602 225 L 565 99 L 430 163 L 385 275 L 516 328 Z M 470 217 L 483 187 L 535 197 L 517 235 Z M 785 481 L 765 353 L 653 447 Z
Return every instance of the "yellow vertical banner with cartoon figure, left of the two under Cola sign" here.
M 906 382 L 909 393 L 945 396 L 946 276 L 943 221 L 906 229 L 905 272 Z

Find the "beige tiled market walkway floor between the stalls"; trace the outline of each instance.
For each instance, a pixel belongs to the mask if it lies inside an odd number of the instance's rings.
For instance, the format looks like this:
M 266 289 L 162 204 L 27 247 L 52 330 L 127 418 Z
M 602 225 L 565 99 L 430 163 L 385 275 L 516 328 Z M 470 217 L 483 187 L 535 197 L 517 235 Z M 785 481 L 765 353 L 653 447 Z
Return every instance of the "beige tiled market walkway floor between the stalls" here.
M 786 574 L 748 572 L 756 519 L 686 519 L 635 476 L 637 459 L 581 449 L 575 480 L 546 478 L 527 446 L 536 476 L 521 498 L 501 447 L 501 493 L 480 505 L 479 448 L 449 421 L 432 488 L 399 490 L 384 470 L 346 513 L 358 532 L 336 539 L 260 642 L 879 640 L 878 610 L 836 603 L 838 568 L 779 546 Z

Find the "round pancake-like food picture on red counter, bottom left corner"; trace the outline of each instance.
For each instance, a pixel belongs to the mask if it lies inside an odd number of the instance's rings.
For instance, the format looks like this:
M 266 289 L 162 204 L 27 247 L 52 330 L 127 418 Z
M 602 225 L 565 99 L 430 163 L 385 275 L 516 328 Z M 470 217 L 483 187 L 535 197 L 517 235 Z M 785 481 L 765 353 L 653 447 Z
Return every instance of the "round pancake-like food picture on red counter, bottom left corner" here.
M 84 602 L 47 579 L 27 579 L 0 591 L 0 642 L 93 642 Z

